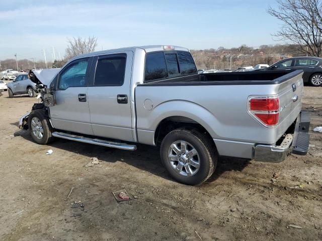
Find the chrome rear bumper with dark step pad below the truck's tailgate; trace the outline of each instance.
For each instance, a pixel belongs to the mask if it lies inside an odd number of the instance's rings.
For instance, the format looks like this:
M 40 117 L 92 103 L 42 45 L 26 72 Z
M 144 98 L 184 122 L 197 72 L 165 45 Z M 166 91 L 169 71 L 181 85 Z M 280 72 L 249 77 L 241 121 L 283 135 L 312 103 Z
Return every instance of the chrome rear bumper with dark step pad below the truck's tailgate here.
M 310 115 L 300 112 L 296 119 L 293 134 L 287 134 L 280 146 L 256 145 L 254 160 L 260 162 L 282 162 L 290 154 L 306 155 L 309 144 L 308 128 Z

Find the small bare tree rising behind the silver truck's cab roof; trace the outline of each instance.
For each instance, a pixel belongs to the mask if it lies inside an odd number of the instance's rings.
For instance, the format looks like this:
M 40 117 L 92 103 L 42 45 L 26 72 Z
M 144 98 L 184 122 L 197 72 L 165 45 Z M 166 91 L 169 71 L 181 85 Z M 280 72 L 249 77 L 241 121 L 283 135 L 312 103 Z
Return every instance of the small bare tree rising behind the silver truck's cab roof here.
M 88 39 L 82 39 L 81 37 L 73 37 L 68 39 L 68 46 L 66 48 L 65 57 L 70 59 L 80 54 L 86 54 L 93 52 L 97 47 L 97 38 L 89 37 Z

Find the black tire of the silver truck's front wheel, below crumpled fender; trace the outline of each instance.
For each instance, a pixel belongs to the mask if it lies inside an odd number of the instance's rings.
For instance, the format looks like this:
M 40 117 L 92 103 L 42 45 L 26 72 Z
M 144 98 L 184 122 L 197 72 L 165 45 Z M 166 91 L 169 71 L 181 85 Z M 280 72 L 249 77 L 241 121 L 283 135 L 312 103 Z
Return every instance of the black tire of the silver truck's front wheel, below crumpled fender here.
M 37 119 L 41 123 L 41 127 L 42 127 L 42 128 L 39 128 L 39 131 L 42 130 L 42 134 L 43 134 L 41 138 L 39 138 L 39 136 L 35 133 L 37 128 L 33 130 L 33 127 L 35 126 L 32 123 L 33 120 L 35 121 L 36 124 L 40 124 L 38 123 Z M 39 126 L 40 125 L 38 125 L 38 127 Z M 49 123 L 49 120 L 45 116 L 44 111 L 41 109 L 36 109 L 31 111 L 31 113 L 28 116 L 28 128 L 29 128 L 31 138 L 34 140 L 34 142 L 40 145 L 46 145 L 53 140 L 53 136 L 51 135 L 53 132 L 52 127 Z

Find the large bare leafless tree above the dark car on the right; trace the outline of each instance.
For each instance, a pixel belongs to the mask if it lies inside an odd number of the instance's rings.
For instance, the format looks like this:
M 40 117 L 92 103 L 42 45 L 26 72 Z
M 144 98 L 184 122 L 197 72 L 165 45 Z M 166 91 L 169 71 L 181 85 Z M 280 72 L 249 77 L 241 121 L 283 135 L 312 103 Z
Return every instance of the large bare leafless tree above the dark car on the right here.
M 322 54 L 321 0 L 284 0 L 267 12 L 282 21 L 280 30 L 273 36 L 299 45 L 300 51 L 319 57 Z

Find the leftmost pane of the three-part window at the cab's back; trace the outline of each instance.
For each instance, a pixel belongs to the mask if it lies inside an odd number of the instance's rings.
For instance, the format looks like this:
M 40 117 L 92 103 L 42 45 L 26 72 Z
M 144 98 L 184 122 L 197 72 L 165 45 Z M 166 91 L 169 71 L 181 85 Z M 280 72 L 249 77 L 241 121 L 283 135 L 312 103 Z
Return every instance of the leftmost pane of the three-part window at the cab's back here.
M 146 82 L 168 77 L 167 65 L 163 52 L 146 55 L 144 76 Z

